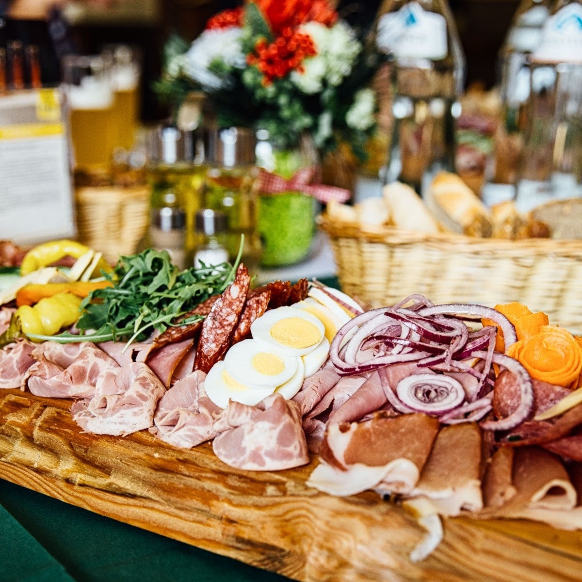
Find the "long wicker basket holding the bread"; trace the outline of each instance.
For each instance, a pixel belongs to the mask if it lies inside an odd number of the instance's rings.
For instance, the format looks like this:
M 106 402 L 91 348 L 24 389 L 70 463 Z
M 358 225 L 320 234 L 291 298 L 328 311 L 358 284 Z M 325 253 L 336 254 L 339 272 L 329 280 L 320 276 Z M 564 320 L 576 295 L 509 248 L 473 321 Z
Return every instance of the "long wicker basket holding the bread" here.
M 412 293 L 434 303 L 520 301 L 582 333 L 582 240 L 478 239 L 391 227 L 360 229 L 318 217 L 342 289 L 383 307 Z

